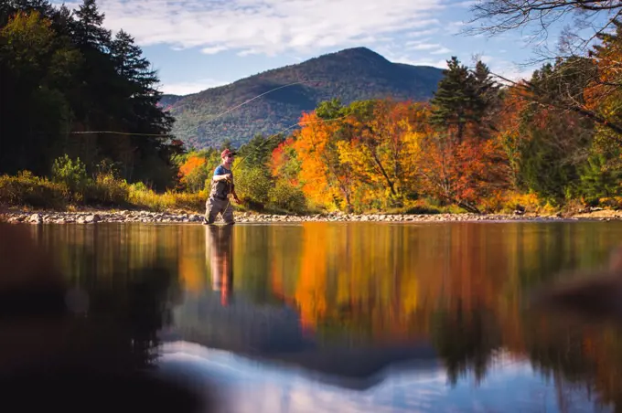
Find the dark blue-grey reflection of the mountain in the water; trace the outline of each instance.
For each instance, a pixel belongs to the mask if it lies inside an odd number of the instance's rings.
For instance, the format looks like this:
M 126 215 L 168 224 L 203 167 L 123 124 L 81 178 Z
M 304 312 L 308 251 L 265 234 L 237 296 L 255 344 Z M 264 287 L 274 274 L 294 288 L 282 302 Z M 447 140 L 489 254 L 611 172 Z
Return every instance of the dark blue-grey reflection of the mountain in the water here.
M 428 344 L 322 346 L 303 334 L 300 316 L 291 307 L 258 305 L 243 294 L 226 306 L 216 292 L 193 294 L 177 307 L 173 318 L 174 325 L 160 334 L 166 342 L 184 340 L 297 365 L 344 387 L 370 387 L 381 379 L 384 368 L 396 363 L 426 361 L 424 368 L 436 363 Z

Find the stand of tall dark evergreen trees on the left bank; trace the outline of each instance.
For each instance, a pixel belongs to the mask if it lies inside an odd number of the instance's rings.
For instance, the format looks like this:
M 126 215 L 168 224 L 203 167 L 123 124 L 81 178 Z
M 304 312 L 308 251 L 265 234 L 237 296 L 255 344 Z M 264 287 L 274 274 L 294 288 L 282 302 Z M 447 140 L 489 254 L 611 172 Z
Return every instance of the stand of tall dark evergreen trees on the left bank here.
M 183 145 L 158 107 L 158 79 L 134 39 L 114 39 L 94 0 L 75 13 L 46 0 L 0 2 L 0 173 L 51 171 L 62 154 L 93 173 L 106 161 L 130 181 L 173 182 Z M 140 133 L 72 134 L 82 131 Z M 153 136 L 150 136 L 153 135 Z

